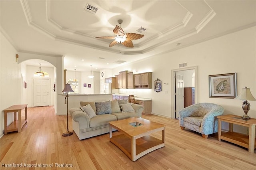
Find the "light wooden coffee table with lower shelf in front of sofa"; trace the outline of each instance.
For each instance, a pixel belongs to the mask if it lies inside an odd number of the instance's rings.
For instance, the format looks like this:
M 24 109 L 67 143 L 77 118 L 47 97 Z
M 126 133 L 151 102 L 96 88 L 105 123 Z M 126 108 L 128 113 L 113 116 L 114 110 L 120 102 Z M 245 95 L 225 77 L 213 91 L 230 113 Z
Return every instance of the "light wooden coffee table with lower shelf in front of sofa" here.
M 164 128 L 166 125 L 155 123 L 141 117 L 109 122 L 110 142 L 120 148 L 132 161 L 164 147 Z M 122 134 L 112 136 L 112 128 Z M 150 136 L 162 130 L 162 139 Z

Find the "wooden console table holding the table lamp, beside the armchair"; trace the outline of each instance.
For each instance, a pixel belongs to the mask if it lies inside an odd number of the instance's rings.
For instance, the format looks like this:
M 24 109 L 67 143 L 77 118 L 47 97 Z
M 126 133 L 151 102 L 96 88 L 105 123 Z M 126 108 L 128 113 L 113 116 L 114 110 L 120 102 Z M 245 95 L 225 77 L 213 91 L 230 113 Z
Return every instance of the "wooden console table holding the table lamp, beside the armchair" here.
M 218 118 L 218 140 L 226 140 L 234 144 L 248 148 L 250 153 L 254 153 L 256 148 L 256 138 L 255 138 L 255 126 L 256 119 L 243 120 L 237 115 L 222 115 L 217 116 Z M 228 132 L 221 132 L 221 122 L 228 122 Z M 241 125 L 249 128 L 249 135 L 240 134 L 233 132 L 233 124 Z

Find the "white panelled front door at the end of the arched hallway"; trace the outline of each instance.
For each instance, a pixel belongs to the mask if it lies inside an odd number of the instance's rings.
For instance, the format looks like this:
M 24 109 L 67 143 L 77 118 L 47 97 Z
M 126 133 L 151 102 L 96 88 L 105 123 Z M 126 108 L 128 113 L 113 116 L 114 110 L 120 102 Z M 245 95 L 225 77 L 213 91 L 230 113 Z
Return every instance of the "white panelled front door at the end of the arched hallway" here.
M 34 107 L 49 106 L 49 79 L 34 79 Z

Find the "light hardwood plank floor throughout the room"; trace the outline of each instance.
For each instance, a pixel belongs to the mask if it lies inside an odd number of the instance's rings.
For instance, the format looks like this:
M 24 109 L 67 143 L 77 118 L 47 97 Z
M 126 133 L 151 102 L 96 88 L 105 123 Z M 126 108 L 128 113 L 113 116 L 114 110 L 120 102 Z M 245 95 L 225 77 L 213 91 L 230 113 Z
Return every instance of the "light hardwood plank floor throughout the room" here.
M 66 116 L 57 116 L 54 107 L 28 108 L 28 123 L 20 133 L 0 138 L 0 169 L 75 170 L 256 170 L 256 154 L 225 141 L 217 135 L 208 139 L 190 130 L 181 130 L 178 120 L 156 115 L 143 118 L 165 124 L 165 147 L 130 160 L 109 141 L 109 134 L 79 140 L 76 134 L 63 137 Z M 72 120 L 69 117 L 69 130 Z M 119 132 L 113 132 L 119 133 Z M 162 138 L 162 132 L 152 134 Z M 22 164 L 22 168 L 7 168 Z M 48 168 L 24 167 L 38 165 Z M 57 166 L 70 166 L 58 168 Z M 71 164 L 71 165 L 68 165 Z M 52 168 L 49 166 L 53 165 Z

